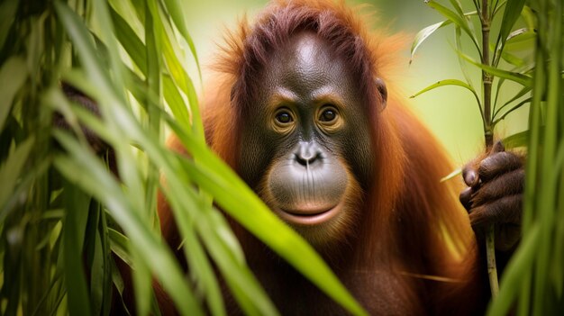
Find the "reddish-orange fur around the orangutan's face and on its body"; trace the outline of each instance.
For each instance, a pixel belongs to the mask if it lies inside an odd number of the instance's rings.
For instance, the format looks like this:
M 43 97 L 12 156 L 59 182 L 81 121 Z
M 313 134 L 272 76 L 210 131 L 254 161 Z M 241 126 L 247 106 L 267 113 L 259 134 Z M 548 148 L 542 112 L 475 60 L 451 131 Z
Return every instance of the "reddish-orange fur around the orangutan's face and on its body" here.
M 272 29 L 264 27 L 280 12 L 283 19 L 274 19 L 279 25 Z M 342 2 L 275 1 L 254 24 L 262 27 L 243 22 L 238 32 L 228 35 L 215 67 L 216 77 L 204 99 L 203 115 L 210 146 L 237 170 L 236 158 L 241 146 L 239 124 L 241 115 L 245 114 L 244 107 L 248 106 L 246 100 L 254 93 L 253 76 L 260 65 L 268 62 L 268 51 L 284 45 L 293 34 L 282 32 L 296 27 L 292 21 L 319 16 L 328 21 L 324 24 L 328 30 L 318 33 L 331 34 L 338 24 L 346 26 L 346 32 L 335 34 L 347 41 L 335 50 L 350 62 L 351 71 L 361 83 L 360 90 L 373 122 L 372 141 L 377 157 L 376 178 L 359 214 L 361 221 L 356 233 L 362 242 L 339 254 L 347 258 L 346 264 L 335 263 L 332 267 L 361 301 L 379 304 L 374 311 L 405 314 L 472 311 L 476 308 L 473 304 L 479 286 L 478 250 L 468 215 L 459 205 L 459 185 L 452 181 L 440 183 L 441 176 L 449 174 L 453 167 L 438 142 L 406 109 L 389 83 L 387 109 L 379 111 L 377 106 L 381 100 L 372 78 L 382 77 L 387 81 L 387 71 L 400 48 L 401 37 L 368 32 L 358 10 Z M 348 41 L 350 36 L 355 37 L 353 50 Z M 270 46 L 265 46 L 266 40 Z M 233 92 L 232 86 L 235 86 Z M 171 147 L 181 149 L 176 140 L 172 140 Z M 173 222 L 168 205 L 159 202 L 162 229 L 171 230 Z M 235 230 L 240 229 L 235 227 Z M 241 231 L 238 234 L 244 235 Z M 262 270 L 276 266 L 263 258 L 262 249 L 251 245 L 249 237 L 241 239 L 243 248 L 254 252 L 247 255 L 259 278 Z M 285 272 L 269 273 L 274 276 L 263 275 L 263 282 L 278 282 L 276 274 Z M 441 281 L 432 280 L 437 276 Z M 359 277 L 373 278 L 370 282 L 375 285 L 363 288 L 366 285 L 355 284 Z M 275 298 L 277 302 L 285 300 L 290 299 Z M 371 307 L 374 306 L 368 306 Z

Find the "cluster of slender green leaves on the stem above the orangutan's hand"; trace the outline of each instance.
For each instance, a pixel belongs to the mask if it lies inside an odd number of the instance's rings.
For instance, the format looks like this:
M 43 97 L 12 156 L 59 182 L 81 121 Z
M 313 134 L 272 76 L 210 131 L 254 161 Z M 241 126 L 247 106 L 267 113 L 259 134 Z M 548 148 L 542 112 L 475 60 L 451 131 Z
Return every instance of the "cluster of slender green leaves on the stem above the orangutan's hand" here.
M 471 2 L 474 10 L 468 12 L 464 11 L 459 0 L 450 0 L 450 7 L 441 5 L 438 1 L 426 3 L 446 20 L 423 28 L 415 35 L 410 62 L 413 62 L 417 50 L 429 36 L 445 26 L 452 25 L 455 50 L 459 56 L 464 80 L 454 78 L 441 80 L 423 88 L 412 97 L 440 86 L 461 86 L 476 99 L 484 132 L 492 134 L 497 123 L 503 121 L 508 114 L 531 103 L 534 68 L 532 56 L 537 36 L 536 19 L 531 7 L 526 5 L 524 0 L 490 0 L 487 1 L 487 13 L 483 13 L 484 5 L 481 4 L 483 1 L 479 0 Z M 484 27 L 487 27 L 486 41 L 483 39 Z M 463 46 L 466 39 L 470 41 L 469 47 Z M 484 56 L 488 58 L 484 59 Z M 475 66 L 486 73 L 487 79 L 482 77 L 479 86 L 475 85 L 476 80 L 471 77 L 468 65 Z M 485 95 L 484 80 L 492 81 L 495 94 Z M 508 81 L 517 83 L 521 87 L 516 94 L 505 100 L 504 86 L 507 86 Z M 506 89 L 506 91 L 512 90 Z M 487 106 L 486 103 L 491 106 Z

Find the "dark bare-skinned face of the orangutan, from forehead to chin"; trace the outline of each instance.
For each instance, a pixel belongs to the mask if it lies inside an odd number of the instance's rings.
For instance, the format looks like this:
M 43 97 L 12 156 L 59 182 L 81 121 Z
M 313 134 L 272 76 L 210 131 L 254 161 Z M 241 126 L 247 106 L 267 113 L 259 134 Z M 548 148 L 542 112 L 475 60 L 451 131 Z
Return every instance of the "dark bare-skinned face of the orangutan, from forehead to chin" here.
M 313 32 L 296 34 L 270 60 L 242 124 L 240 174 L 314 245 L 342 239 L 373 177 L 358 85 Z

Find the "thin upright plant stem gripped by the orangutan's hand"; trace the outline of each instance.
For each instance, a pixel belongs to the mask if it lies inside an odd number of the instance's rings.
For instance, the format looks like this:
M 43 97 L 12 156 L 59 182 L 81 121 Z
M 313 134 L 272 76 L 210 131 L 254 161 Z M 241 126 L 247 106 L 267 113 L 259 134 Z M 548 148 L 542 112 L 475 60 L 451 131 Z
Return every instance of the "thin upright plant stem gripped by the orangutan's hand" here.
M 482 63 L 489 66 L 489 8 L 488 0 L 482 0 Z M 486 141 L 486 150 L 492 148 L 494 144 L 494 133 L 492 131 L 491 119 L 491 99 L 492 99 L 492 75 L 482 70 L 482 83 L 484 85 L 484 138 Z M 487 257 L 487 275 L 489 277 L 489 286 L 492 292 L 492 298 L 496 298 L 499 291 L 497 283 L 497 267 L 496 267 L 496 247 L 495 247 L 495 231 L 494 225 L 490 225 L 486 230 L 486 257 Z

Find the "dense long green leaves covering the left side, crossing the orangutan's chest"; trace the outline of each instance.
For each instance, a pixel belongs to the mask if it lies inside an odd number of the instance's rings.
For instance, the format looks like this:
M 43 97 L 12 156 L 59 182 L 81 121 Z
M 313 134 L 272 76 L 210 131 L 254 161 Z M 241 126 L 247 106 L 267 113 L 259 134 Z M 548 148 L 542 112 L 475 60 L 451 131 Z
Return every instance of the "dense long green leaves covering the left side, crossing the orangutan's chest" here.
M 277 314 L 223 212 L 363 313 L 314 249 L 205 145 L 183 10 L 177 0 L 0 5 L 0 313 L 107 315 L 113 287 L 123 292 L 119 257 L 133 268 L 141 315 L 159 314 L 151 282 L 182 314 L 225 314 L 215 268 L 243 311 Z M 100 116 L 69 102 L 61 82 L 92 96 Z M 55 112 L 72 131 L 53 127 Z M 119 179 L 83 126 L 114 148 Z M 165 128 L 191 158 L 166 148 Z M 188 275 L 160 238 L 158 190 L 173 206 Z

